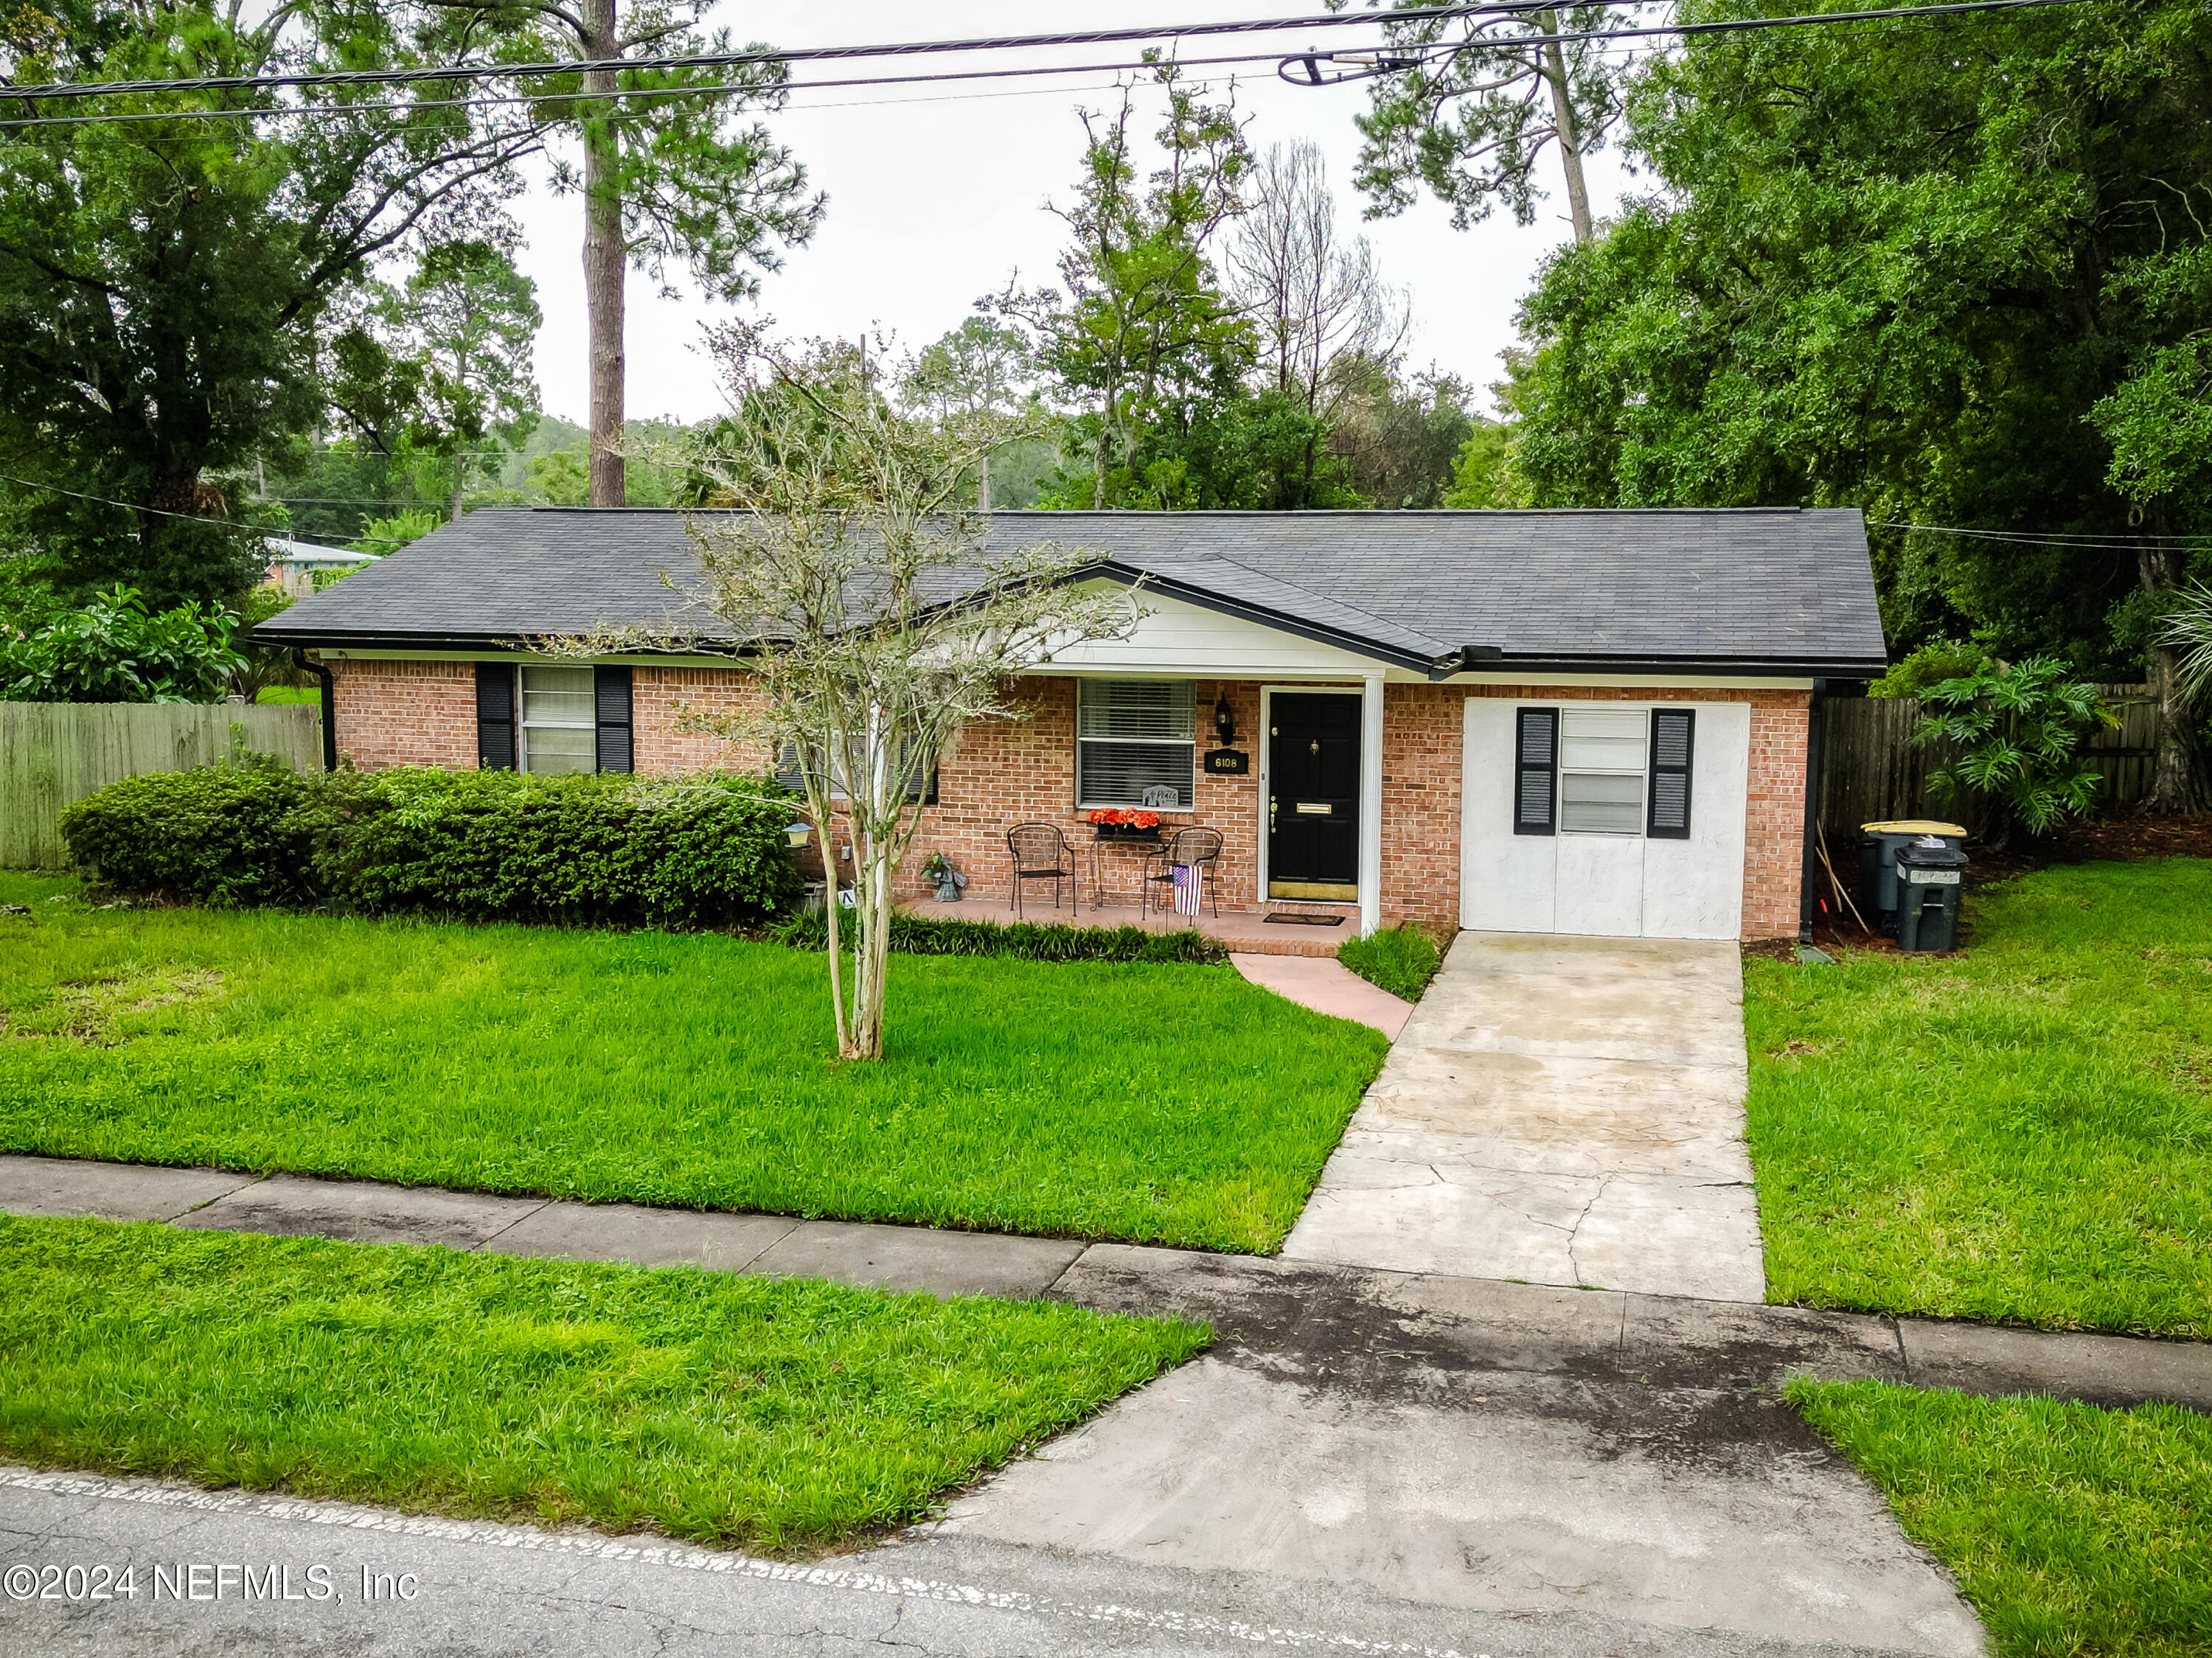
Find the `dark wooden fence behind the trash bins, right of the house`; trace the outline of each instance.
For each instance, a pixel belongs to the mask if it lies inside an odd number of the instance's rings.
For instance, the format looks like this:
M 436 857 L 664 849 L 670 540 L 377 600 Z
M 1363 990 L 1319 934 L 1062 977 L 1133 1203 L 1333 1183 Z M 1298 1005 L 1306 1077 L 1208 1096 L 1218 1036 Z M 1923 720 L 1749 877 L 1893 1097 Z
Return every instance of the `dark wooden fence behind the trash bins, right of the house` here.
M 2148 685 L 2099 685 L 2119 725 L 2097 732 L 2084 754 L 2104 774 L 2101 809 L 2132 807 L 2150 794 L 2159 707 Z M 1820 827 L 1829 847 L 1856 847 L 1858 825 L 1891 818 L 1949 818 L 1978 827 L 1982 802 L 1955 802 L 1929 787 L 1929 774 L 1951 760 L 1947 743 L 1913 743 L 1920 701 L 1911 696 L 1838 696 L 1820 705 Z

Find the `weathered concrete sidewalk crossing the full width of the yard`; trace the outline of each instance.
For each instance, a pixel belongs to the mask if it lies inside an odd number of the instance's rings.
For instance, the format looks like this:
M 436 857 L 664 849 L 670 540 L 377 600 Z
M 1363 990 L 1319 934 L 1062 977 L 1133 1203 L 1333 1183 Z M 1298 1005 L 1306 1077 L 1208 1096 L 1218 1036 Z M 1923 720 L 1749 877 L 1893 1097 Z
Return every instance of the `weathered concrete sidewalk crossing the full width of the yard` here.
M 1736 1373 L 1745 1384 L 1767 1384 L 1792 1371 L 1836 1379 L 1885 1375 L 1966 1393 L 2051 1393 L 2106 1406 L 2172 1399 L 2212 1410 L 2212 1342 L 1891 1320 L 1626 1291 L 1562 1291 L 1506 1280 L 1086 1245 L 1071 1238 L 646 1209 L 626 1203 L 549 1203 L 376 1180 L 312 1180 L 294 1174 L 257 1178 L 223 1169 L 42 1156 L 0 1156 L 0 1214 L 168 1220 L 179 1227 L 349 1242 L 427 1242 L 513 1256 L 626 1260 L 639 1267 L 783 1273 L 933 1295 L 1053 1295 L 1110 1311 L 1188 1313 L 1217 1322 L 1256 1318 L 1254 1309 L 1312 1318 L 1314 1311 L 1301 1298 L 1316 1287 L 1383 1307 L 1413 1293 L 1407 1287 L 1420 1287 L 1420 1295 L 1429 1300 L 1444 1295 L 1473 1309 L 1464 1318 L 1473 1320 L 1469 1331 L 1482 1331 L 1482 1364 L 1491 1368 L 1666 1377 L 1688 1373 L 1679 1368 L 1686 1364 L 1692 1371 L 1705 1366 L 1714 1342 L 1725 1333 L 1741 1366 L 1747 1366 Z M 1141 1262 L 1141 1271 L 1133 1262 Z M 1097 1273 L 1106 1265 L 1135 1276 L 1102 1280 Z M 1084 1289 L 1102 1282 L 1117 1284 L 1110 1293 L 1102 1291 L 1102 1300 Z M 1887 1368 L 1865 1368 L 1874 1360 L 1849 1355 L 1887 1355 L 1880 1357 Z

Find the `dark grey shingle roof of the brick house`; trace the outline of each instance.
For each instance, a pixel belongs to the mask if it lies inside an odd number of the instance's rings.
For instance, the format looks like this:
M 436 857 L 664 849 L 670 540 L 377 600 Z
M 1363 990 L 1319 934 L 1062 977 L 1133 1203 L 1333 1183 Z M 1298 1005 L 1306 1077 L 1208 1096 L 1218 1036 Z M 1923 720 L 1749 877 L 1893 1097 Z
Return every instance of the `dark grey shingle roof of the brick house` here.
M 254 630 L 265 643 L 482 650 L 668 626 L 699 562 L 677 511 L 469 513 Z M 991 539 L 1429 672 L 1885 665 L 1851 508 L 1590 513 L 993 513 Z M 684 630 L 739 641 L 688 612 Z M 1462 654 L 1464 652 L 1464 654 Z

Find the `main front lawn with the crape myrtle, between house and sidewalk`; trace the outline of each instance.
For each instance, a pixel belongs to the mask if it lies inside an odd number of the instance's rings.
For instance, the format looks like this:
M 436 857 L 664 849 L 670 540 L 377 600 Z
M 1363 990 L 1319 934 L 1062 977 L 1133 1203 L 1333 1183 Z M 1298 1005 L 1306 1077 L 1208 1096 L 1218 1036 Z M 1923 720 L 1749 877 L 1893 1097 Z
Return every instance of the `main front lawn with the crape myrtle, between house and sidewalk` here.
M 0 1150 L 1267 1251 L 1385 1050 L 1232 968 L 894 957 L 838 1066 L 774 944 L 73 891 L 0 875 Z

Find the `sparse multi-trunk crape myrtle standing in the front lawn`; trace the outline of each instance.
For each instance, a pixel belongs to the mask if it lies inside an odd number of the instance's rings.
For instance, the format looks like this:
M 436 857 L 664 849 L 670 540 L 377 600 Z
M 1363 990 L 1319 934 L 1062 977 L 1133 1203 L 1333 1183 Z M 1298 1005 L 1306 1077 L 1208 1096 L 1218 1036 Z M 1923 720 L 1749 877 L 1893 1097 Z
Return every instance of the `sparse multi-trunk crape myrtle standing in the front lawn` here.
M 1124 637 L 1139 610 L 1128 588 L 1073 579 L 1095 553 L 987 546 L 971 478 L 1031 431 L 1022 422 L 900 413 L 849 345 L 790 354 L 741 327 L 712 338 L 739 413 L 695 462 L 697 500 L 723 511 L 690 522 L 692 601 L 757 641 L 745 665 L 761 710 L 695 723 L 796 763 L 830 875 L 838 1054 L 880 1059 L 891 898 L 938 754 L 971 721 L 1022 718 L 1015 674 Z M 841 838 L 852 909 L 836 902 Z

